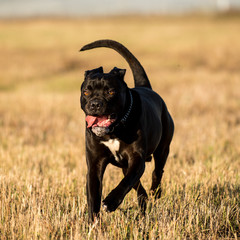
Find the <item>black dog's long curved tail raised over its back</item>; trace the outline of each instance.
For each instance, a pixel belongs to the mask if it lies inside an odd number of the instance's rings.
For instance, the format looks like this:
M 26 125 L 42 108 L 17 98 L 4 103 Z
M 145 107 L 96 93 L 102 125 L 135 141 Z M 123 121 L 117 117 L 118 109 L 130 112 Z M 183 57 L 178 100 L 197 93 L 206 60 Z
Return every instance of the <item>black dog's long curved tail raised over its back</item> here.
M 142 67 L 141 63 L 136 59 L 136 57 L 134 57 L 134 55 L 126 47 L 124 47 L 119 42 L 107 39 L 98 40 L 85 45 L 80 49 L 80 51 L 85 51 L 99 47 L 112 48 L 125 58 L 125 60 L 128 62 L 132 70 L 135 87 L 147 87 L 152 89 L 147 74 L 144 68 Z

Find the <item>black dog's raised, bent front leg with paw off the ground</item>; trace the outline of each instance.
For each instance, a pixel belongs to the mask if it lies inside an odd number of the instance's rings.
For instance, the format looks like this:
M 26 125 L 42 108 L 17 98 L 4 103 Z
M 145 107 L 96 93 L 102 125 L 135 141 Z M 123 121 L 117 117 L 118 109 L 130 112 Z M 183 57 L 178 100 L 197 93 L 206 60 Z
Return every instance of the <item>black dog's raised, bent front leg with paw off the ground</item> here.
M 113 189 L 103 200 L 103 208 L 112 212 L 121 204 L 125 195 L 135 186 L 145 169 L 145 161 L 142 157 L 133 156 L 128 163 L 127 174 L 119 185 Z

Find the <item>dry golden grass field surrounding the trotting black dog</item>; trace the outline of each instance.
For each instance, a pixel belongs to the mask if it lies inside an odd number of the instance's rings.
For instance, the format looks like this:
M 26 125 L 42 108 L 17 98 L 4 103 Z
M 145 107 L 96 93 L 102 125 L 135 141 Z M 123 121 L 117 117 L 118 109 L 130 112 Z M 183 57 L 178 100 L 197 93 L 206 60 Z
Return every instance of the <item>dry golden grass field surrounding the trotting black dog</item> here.
M 0 239 L 240 239 L 240 16 L 0 21 Z M 176 125 L 145 218 L 131 191 L 88 225 L 84 71 L 127 68 L 93 40 L 125 44 Z M 153 162 L 142 177 L 149 190 Z M 103 196 L 122 178 L 109 166 Z

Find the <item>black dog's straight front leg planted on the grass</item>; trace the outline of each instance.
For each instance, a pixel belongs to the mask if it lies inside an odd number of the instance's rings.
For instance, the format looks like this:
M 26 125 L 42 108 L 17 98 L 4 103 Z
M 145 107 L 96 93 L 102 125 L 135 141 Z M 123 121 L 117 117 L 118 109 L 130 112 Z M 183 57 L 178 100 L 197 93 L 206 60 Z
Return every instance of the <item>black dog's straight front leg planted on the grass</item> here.
M 87 201 L 89 220 L 98 216 L 102 197 L 102 178 L 106 168 L 104 161 L 88 161 Z

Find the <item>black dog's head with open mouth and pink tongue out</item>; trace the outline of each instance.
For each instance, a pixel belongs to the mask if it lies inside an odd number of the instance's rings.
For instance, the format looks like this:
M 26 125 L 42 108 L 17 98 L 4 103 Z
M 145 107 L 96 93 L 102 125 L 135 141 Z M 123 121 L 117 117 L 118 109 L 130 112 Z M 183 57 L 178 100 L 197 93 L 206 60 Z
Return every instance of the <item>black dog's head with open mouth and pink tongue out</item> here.
M 85 72 L 81 86 L 81 108 L 86 114 L 87 128 L 101 137 L 122 116 L 126 105 L 126 70 L 113 68 L 104 73 L 103 68 Z

